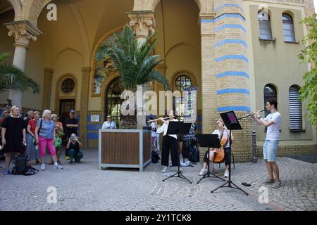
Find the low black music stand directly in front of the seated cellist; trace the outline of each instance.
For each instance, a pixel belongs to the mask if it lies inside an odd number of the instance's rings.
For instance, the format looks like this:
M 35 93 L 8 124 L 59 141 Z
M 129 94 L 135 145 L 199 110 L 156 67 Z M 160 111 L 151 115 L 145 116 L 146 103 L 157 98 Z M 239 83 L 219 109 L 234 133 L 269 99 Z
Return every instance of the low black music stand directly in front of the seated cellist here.
M 220 141 L 217 134 L 198 134 L 197 139 L 199 142 L 199 146 L 208 148 L 208 160 L 210 158 L 210 148 L 220 148 Z M 213 158 L 213 163 L 214 162 L 215 162 L 215 158 Z M 197 184 L 199 184 L 200 181 L 202 181 L 203 179 L 207 177 L 218 178 L 225 181 L 225 179 L 210 172 L 210 162 L 208 163 L 208 172 L 201 179 L 199 179 L 199 181 L 197 181 Z

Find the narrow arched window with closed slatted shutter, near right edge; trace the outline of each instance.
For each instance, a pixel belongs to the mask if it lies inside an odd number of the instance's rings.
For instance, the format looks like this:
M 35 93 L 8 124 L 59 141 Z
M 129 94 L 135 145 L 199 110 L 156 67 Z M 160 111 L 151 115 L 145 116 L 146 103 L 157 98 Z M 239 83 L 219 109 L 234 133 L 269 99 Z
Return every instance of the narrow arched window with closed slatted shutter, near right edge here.
M 290 87 L 288 98 L 290 104 L 290 130 L 302 130 L 302 102 L 299 100 L 299 88 L 297 86 L 293 85 Z

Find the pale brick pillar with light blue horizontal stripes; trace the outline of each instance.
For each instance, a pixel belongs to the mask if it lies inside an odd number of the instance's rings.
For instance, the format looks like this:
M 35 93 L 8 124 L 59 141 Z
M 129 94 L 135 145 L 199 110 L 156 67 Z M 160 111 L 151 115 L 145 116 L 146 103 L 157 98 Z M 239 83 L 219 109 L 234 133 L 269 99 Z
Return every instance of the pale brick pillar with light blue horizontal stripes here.
M 234 110 L 238 117 L 249 113 L 249 59 L 247 30 L 242 0 L 215 0 L 215 60 L 217 112 Z M 251 162 L 251 118 L 240 121 L 243 131 L 235 131 L 232 149 L 239 161 Z

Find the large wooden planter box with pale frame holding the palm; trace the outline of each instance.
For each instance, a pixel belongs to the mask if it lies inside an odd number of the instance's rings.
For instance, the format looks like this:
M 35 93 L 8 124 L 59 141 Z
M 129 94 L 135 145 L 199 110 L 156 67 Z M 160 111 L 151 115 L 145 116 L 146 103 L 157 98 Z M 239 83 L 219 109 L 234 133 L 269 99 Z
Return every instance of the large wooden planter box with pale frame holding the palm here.
M 143 168 L 151 162 L 151 131 L 99 129 L 99 169 Z

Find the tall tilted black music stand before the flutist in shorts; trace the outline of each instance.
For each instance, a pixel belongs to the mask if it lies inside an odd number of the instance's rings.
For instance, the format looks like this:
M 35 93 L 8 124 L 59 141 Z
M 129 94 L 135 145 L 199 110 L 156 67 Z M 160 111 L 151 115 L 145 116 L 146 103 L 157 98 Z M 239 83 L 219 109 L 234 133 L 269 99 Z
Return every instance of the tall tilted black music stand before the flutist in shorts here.
M 249 195 L 249 193 L 245 192 L 242 190 L 242 188 L 240 188 L 239 186 L 237 186 L 235 183 L 233 183 L 231 181 L 231 131 L 232 130 L 240 130 L 242 129 L 237 116 L 235 115 L 235 112 L 230 111 L 227 113 L 221 113 L 220 114 L 221 118 L 223 119 L 223 122 L 225 123 L 225 126 L 230 130 L 229 132 L 229 155 L 230 155 L 230 160 L 229 160 L 229 180 L 227 182 L 225 182 L 225 184 L 219 186 L 218 188 L 216 188 L 215 190 L 211 191 L 211 193 L 215 192 L 216 190 L 218 190 L 219 188 L 234 188 L 234 189 L 238 189 L 240 191 L 242 191 L 243 193 L 245 193 L 246 195 Z M 228 186 L 225 186 L 226 184 L 228 184 Z

